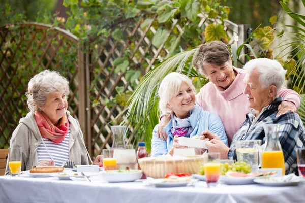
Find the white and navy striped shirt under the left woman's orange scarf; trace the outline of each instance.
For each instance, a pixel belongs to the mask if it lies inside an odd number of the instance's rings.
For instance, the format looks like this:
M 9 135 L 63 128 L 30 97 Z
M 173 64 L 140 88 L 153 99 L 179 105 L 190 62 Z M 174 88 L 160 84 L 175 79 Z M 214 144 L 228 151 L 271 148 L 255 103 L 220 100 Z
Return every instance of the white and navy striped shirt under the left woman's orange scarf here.
M 51 140 L 42 137 L 42 141 L 39 143 L 37 148 L 38 164 L 42 160 L 54 160 L 55 166 L 61 166 L 64 162 L 69 160 L 69 138 L 70 124 L 65 139 L 58 144 L 55 144 Z

